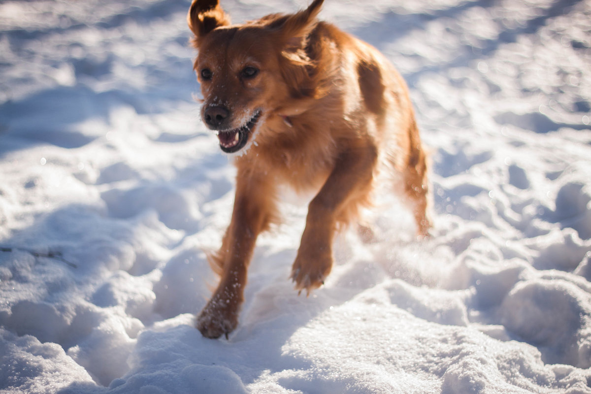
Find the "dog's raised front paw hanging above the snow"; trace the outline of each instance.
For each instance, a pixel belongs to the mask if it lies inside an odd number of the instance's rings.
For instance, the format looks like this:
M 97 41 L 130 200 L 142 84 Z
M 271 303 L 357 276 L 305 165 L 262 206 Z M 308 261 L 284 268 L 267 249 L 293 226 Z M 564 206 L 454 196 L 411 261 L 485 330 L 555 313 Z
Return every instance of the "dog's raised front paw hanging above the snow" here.
M 306 290 L 306 294 L 310 295 L 313 289 L 322 286 L 330 269 L 332 269 L 330 253 L 306 257 L 302 253 L 298 253 L 296 261 L 291 267 L 291 280 L 296 284 L 298 294 Z

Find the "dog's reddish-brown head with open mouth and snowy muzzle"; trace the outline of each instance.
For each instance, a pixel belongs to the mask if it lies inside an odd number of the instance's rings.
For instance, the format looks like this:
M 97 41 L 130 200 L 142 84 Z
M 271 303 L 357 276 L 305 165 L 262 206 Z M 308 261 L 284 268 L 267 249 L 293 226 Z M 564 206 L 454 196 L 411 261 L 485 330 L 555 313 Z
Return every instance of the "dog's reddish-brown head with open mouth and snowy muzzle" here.
M 318 96 L 307 37 L 323 0 L 303 11 L 232 25 L 217 0 L 193 0 L 187 21 L 201 84 L 201 115 L 224 152 L 238 152 L 264 119 L 291 116 Z

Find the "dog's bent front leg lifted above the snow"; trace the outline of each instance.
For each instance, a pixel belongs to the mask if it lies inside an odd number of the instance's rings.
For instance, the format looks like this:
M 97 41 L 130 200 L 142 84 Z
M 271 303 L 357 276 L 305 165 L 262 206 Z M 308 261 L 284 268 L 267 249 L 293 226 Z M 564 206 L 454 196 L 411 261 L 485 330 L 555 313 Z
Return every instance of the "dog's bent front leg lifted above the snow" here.
M 296 289 L 324 284 L 332 269 L 332 242 L 337 224 L 347 223 L 359 204 L 368 200 L 377 161 L 375 146 L 352 146 L 337 157 L 320 192 L 310 202 L 306 228 L 291 271 Z

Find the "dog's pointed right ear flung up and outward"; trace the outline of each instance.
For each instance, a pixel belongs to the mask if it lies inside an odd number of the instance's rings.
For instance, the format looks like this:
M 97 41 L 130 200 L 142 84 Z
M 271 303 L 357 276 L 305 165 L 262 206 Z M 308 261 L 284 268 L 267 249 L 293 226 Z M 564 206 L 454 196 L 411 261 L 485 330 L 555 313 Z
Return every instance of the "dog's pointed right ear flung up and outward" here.
M 308 8 L 286 15 L 271 26 L 281 35 L 285 49 L 297 50 L 305 46 L 306 37 L 316 26 L 316 17 L 323 2 L 324 0 L 314 0 Z

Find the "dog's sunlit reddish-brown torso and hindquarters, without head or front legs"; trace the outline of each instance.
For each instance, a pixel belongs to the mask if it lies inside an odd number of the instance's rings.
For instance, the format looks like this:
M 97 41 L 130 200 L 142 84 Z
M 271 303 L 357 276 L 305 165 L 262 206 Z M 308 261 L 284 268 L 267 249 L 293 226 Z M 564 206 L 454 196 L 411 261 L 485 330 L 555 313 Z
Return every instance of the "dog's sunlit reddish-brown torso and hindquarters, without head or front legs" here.
M 343 141 L 358 140 L 375 146 L 375 179 L 387 179 L 394 188 L 402 187 L 405 200 L 415 212 L 417 231 L 426 236 L 430 227 L 424 214 L 427 158 L 404 79 L 376 48 L 332 24 L 318 22 L 308 40 L 306 56 L 317 64 L 314 77 L 324 96 L 317 97 L 300 116 L 302 129 L 293 130 L 293 139 L 275 140 L 281 144 L 278 150 L 282 155 L 292 152 L 289 165 L 277 167 L 286 171 L 281 178 L 290 180 L 298 189 L 309 188 L 316 185 L 310 180 L 319 177 L 319 169 L 324 168 L 326 172 L 319 179 L 322 184 L 327 171 L 335 165 Z M 300 160 L 294 163 L 297 158 Z M 311 162 L 312 158 L 316 161 Z M 293 176 L 294 167 L 302 177 Z M 371 185 L 367 190 L 358 190 L 363 197 L 358 204 L 351 204 L 342 223 L 354 219 L 357 208 L 371 204 L 373 189 Z

